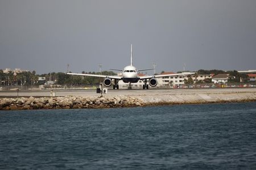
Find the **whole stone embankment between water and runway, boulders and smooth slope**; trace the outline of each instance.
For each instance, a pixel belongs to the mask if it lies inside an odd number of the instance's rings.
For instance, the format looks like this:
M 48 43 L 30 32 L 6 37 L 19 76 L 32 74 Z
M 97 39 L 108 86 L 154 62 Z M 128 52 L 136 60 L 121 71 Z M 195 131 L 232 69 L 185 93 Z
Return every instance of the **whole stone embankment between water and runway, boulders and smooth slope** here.
M 82 108 L 129 108 L 181 104 L 241 103 L 256 101 L 253 91 L 204 91 L 177 94 L 130 94 L 98 96 L 58 96 L 58 97 L 6 97 L 0 99 L 0 110 L 26 109 L 82 109 Z

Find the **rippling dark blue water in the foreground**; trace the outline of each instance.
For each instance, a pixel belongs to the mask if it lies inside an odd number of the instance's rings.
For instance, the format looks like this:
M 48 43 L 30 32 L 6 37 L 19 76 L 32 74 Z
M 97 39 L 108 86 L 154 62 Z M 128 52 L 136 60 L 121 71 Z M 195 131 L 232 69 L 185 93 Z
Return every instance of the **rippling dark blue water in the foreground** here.
M 0 169 L 256 169 L 256 103 L 0 111 Z

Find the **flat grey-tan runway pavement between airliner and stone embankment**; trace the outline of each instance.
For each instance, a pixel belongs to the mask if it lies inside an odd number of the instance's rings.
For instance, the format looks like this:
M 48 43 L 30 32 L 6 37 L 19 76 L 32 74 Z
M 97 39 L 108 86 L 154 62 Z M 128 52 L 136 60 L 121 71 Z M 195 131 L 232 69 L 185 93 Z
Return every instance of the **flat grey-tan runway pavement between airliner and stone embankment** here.
M 55 96 L 100 96 L 96 90 L 53 90 Z M 149 89 L 149 90 L 108 90 L 104 96 L 147 96 L 147 95 L 181 95 L 181 94 L 225 94 L 225 93 L 255 93 L 256 88 L 182 88 L 182 89 Z M 16 91 L 0 91 L 0 97 L 15 97 Z M 19 91 L 23 97 L 49 97 L 51 90 Z

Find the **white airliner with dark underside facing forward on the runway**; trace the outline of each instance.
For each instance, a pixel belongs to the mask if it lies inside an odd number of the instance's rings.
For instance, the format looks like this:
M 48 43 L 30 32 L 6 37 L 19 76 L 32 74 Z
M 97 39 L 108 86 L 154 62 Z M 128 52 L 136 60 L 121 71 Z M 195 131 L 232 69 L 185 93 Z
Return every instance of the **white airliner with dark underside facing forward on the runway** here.
M 124 69 L 110 69 L 122 71 L 122 76 L 117 75 L 96 75 L 96 74 L 79 74 L 79 73 L 67 73 L 69 75 L 82 75 L 82 76 L 94 76 L 98 78 L 105 78 L 103 83 L 106 87 L 110 87 L 113 83 L 113 89 L 119 89 L 118 82 L 123 80 L 124 83 L 129 83 L 129 90 L 131 89 L 131 83 L 137 83 L 139 80 L 143 81 L 143 89 L 148 89 L 148 84 L 151 87 L 155 87 L 158 84 L 156 78 L 164 76 L 176 76 L 176 75 L 189 75 L 195 73 L 178 73 L 178 74 L 164 74 L 164 75 L 144 75 L 138 76 L 139 71 L 153 70 L 153 69 L 142 69 L 137 70 L 133 66 L 133 45 L 131 44 L 131 64 L 126 66 Z

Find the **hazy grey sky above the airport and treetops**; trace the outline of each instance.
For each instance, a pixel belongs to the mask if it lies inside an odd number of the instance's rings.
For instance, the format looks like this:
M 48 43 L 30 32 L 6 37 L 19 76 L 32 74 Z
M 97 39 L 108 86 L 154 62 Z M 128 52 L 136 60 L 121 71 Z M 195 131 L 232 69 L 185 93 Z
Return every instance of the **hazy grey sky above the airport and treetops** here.
M 255 0 L 0 0 L 0 69 L 256 70 Z M 69 67 L 67 67 L 69 65 Z

